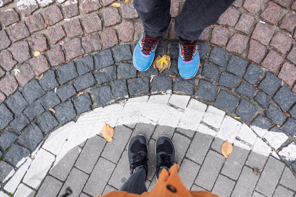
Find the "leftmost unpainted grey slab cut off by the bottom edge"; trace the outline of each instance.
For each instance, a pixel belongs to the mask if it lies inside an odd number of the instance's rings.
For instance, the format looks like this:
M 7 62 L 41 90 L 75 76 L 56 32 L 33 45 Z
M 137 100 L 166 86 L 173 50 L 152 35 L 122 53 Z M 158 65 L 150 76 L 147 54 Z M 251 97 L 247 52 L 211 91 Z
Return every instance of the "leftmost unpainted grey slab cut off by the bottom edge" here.
M 52 176 L 46 176 L 38 190 L 36 197 L 55 197 L 59 193 L 63 183 Z

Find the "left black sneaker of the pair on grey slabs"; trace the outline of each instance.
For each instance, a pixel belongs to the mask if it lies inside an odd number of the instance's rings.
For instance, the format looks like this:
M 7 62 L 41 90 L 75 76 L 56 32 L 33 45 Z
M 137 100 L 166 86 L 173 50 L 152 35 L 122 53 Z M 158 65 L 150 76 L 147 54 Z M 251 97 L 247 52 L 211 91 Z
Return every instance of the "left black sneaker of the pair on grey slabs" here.
M 146 170 L 146 178 L 148 175 L 148 165 L 147 165 L 147 140 L 146 137 L 138 134 L 131 138 L 128 144 L 128 161 L 130 164 L 131 175 L 139 167 L 144 167 Z

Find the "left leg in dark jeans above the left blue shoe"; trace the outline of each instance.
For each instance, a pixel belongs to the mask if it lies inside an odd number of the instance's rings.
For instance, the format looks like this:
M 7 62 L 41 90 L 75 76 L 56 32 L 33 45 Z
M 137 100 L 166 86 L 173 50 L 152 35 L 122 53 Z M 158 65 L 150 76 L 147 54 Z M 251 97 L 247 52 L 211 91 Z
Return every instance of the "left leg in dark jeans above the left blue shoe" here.
M 160 38 L 165 34 L 171 19 L 170 0 L 134 0 L 133 6 L 149 36 Z

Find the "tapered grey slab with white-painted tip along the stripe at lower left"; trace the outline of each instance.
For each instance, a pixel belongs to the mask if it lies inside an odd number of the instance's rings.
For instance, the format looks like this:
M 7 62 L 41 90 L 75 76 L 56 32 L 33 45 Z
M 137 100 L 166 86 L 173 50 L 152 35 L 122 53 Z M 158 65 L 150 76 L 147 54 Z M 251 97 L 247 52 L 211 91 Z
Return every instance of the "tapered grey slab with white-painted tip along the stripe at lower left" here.
M 71 149 L 65 156 L 55 165 L 50 171 L 49 174 L 58 178 L 59 180 L 65 181 L 69 172 L 73 168 L 73 165 L 80 154 L 81 148 L 75 146 Z

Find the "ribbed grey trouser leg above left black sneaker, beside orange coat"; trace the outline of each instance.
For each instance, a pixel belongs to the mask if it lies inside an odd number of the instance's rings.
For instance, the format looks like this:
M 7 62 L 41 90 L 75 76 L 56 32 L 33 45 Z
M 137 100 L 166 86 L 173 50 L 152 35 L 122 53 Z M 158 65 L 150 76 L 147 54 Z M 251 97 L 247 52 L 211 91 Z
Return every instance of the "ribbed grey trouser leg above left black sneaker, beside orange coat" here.
M 119 191 L 127 191 L 128 193 L 142 194 L 147 191 L 145 185 L 146 171 L 144 167 L 139 167 L 135 170 L 133 174 L 126 180 L 126 182 L 121 186 Z

